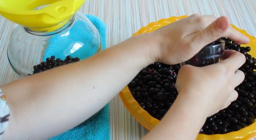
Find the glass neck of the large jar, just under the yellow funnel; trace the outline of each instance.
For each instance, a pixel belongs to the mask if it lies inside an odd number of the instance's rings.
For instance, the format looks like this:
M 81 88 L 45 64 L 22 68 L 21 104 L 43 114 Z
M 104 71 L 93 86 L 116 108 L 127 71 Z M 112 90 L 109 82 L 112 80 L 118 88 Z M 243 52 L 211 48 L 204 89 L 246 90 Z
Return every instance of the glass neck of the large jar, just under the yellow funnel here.
M 68 27 L 73 25 L 73 22 L 75 20 L 75 15 L 73 15 L 68 20 L 65 20 L 58 25 L 48 27 L 48 28 L 30 28 L 30 27 L 24 27 L 25 31 L 27 31 L 30 34 L 38 35 L 38 36 L 49 36 L 57 34 Z

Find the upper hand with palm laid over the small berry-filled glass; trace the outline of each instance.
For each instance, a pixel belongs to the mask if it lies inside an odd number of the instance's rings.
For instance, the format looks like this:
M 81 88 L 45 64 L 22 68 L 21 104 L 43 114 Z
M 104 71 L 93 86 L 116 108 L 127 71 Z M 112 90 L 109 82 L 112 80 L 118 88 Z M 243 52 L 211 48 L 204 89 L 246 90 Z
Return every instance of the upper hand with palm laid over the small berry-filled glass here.
M 151 32 L 152 39 L 159 41 L 155 52 L 157 62 L 177 64 L 189 60 L 205 45 L 220 37 L 229 37 L 234 42 L 246 44 L 250 40 L 233 29 L 227 17 L 191 15 Z

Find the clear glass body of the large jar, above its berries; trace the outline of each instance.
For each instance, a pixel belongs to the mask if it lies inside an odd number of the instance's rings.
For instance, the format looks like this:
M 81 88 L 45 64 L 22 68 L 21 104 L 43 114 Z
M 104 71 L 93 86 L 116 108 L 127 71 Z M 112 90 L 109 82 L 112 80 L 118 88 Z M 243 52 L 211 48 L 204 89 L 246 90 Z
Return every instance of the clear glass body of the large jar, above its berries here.
M 55 56 L 64 60 L 70 55 L 72 58 L 85 59 L 99 50 L 98 30 L 86 16 L 76 12 L 64 26 L 51 32 L 38 32 L 16 25 L 7 55 L 16 74 L 24 77 L 32 74 L 33 66 L 45 61 L 47 57 Z

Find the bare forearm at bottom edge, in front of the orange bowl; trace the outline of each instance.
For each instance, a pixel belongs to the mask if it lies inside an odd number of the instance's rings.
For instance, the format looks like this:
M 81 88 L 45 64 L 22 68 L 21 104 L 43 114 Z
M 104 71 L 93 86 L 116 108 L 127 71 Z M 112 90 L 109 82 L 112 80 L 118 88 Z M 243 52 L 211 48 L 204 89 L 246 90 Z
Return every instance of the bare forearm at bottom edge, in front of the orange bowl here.
M 159 124 L 144 139 L 196 139 L 206 118 L 207 115 L 201 111 L 201 107 L 192 103 L 186 97 L 184 98 L 178 95 L 172 107 Z

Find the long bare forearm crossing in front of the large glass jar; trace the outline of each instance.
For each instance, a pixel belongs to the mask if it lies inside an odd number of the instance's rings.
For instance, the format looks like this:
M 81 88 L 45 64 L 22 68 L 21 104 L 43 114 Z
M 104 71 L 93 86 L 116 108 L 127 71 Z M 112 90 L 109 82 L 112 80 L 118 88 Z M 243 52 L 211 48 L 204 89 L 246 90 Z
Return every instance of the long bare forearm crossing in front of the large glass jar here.
M 84 61 L 4 85 L 2 90 L 12 111 L 11 131 L 5 131 L 6 135 L 48 138 L 88 119 L 140 69 L 155 61 L 149 50 L 153 48 L 148 48 L 154 44 L 149 44 L 146 36 L 130 38 Z

